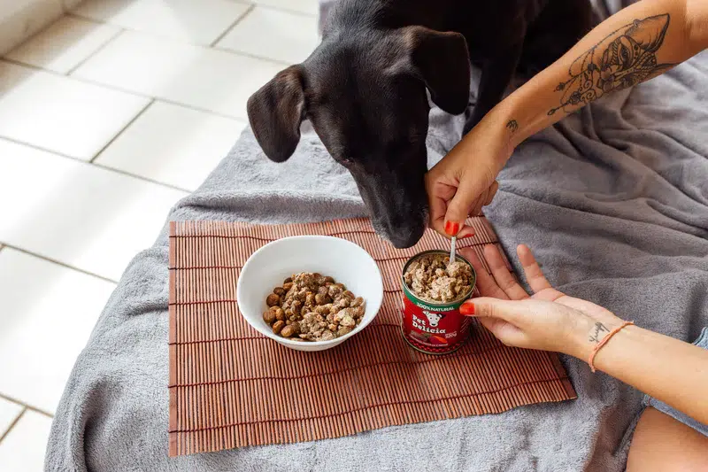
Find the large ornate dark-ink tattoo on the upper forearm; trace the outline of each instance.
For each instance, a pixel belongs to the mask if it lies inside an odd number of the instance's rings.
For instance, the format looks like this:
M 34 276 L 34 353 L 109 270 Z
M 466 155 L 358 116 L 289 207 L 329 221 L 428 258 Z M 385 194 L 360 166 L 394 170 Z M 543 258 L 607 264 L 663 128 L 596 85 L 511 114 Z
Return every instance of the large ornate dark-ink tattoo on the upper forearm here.
M 558 107 L 549 110 L 549 116 L 558 110 L 573 112 L 578 105 L 632 87 L 675 66 L 657 61 L 670 19 L 668 13 L 635 19 L 575 59 L 568 70 L 570 78 L 556 87 L 563 97 Z

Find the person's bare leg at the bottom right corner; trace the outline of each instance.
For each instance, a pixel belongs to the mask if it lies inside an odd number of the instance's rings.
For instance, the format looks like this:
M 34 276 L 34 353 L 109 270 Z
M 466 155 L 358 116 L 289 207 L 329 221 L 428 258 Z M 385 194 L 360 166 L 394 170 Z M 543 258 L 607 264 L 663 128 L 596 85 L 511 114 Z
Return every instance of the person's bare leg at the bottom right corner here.
M 627 472 L 708 470 L 708 437 L 655 408 L 644 410 L 629 447 Z

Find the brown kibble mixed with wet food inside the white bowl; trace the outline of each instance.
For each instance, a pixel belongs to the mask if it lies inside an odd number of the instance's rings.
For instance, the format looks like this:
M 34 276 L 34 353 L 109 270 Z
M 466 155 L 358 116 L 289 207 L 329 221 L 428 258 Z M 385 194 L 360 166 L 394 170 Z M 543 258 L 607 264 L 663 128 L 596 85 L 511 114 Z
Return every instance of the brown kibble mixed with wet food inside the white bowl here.
M 263 321 L 281 337 L 328 341 L 358 326 L 366 305 L 332 277 L 301 272 L 288 277 L 266 298 Z

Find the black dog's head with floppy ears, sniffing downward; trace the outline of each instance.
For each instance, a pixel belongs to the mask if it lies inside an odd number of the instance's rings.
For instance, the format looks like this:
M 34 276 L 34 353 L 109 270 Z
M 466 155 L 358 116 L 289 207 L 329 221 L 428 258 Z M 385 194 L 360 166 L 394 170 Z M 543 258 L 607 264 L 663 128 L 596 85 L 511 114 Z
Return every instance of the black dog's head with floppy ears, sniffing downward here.
M 374 228 L 396 247 L 410 247 L 427 226 L 426 89 L 443 111 L 458 114 L 469 82 L 458 33 L 404 27 L 327 35 L 304 63 L 250 97 L 250 126 L 266 156 L 282 162 L 310 120 L 357 182 Z

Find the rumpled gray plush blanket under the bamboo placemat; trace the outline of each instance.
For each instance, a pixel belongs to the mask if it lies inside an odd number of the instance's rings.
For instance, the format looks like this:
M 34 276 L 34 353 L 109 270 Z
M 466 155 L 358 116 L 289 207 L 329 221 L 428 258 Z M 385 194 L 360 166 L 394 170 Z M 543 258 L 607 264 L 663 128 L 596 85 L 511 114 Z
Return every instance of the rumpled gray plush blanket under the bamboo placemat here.
M 708 325 L 708 56 L 605 97 L 523 143 L 486 213 L 561 290 L 690 341 Z M 461 118 L 434 110 L 431 164 Z M 280 223 L 365 213 L 312 131 L 282 165 L 246 130 L 169 220 Z M 353 437 L 167 457 L 167 238 L 138 254 L 58 406 L 48 470 L 623 470 L 642 394 L 563 361 L 577 400 Z M 460 372 L 460 375 L 466 375 Z

